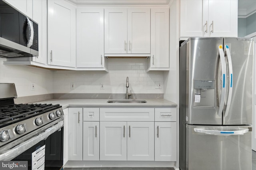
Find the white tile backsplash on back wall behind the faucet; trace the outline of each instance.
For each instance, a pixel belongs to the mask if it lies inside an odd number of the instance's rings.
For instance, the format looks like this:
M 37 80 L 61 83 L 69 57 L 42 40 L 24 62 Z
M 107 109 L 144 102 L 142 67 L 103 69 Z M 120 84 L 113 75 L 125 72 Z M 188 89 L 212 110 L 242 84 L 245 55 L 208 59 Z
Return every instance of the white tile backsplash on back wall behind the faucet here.
M 129 77 L 129 93 L 164 93 L 162 71 L 147 70 L 147 59 L 107 59 L 105 71 L 54 71 L 54 93 L 126 93 L 126 77 Z M 70 89 L 74 82 L 76 89 Z M 155 89 L 155 82 L 162 89 Z M 100 83 L 104 89 L 100 89 Z

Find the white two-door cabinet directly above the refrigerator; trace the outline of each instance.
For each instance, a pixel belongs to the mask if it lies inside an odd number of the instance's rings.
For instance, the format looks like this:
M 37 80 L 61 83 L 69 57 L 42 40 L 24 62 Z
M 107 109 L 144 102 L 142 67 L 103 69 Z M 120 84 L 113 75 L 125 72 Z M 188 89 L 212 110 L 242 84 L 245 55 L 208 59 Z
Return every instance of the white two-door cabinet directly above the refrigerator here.
M 237 0 L 181 0 L 180 37 L 237 37 Z

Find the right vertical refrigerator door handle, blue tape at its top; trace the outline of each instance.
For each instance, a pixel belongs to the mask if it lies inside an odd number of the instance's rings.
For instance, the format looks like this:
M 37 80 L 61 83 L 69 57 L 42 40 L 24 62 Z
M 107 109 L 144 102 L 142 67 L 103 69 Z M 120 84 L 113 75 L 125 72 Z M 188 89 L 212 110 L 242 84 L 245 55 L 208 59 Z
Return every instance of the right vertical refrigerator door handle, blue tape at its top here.
M 232 67 L 232 61 L 231 61 L 231 55 L 228 45 L 225 45 L 225 51 L 227 54 L 227 61 L 228 61 L 228 69 L 229 69 L 229 84 L 228 84 L 228 97 L 227 97 L 227 103 L 226 103 L 226 110 L 224 117 L 228 116 L 229 109 L 230 109 L 230 103 L 231 103 L 231 97 L 232 97 L 232 87 L 233 87 L 233 67 Z

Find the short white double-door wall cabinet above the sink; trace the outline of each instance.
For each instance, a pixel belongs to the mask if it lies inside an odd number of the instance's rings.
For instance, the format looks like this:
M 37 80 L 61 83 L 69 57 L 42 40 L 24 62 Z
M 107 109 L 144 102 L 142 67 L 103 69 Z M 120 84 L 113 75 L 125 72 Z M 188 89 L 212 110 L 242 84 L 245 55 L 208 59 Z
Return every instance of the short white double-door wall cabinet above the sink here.
M 150 53 L 150 8 L 106 8 L 106 54 Z

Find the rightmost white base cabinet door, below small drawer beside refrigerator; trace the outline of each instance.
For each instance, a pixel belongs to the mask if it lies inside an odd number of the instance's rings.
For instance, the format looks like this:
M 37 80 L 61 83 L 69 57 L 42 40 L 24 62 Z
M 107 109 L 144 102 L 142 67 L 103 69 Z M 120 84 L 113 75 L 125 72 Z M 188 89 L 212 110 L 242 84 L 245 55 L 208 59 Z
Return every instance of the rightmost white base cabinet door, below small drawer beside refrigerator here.
M 176 122 L 155 122 L 155 161 L 176 161 Z

